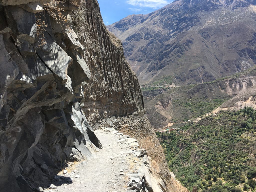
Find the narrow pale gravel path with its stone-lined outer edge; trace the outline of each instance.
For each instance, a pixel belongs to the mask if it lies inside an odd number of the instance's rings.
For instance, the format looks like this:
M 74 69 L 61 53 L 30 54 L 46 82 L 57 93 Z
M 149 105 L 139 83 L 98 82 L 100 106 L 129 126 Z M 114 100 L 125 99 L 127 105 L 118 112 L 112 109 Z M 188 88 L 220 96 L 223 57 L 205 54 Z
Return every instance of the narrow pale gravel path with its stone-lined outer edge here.
M 55 182 L 48 189 L 40 188 L 41 191 L 140 191 L 143 176 L 147 179 L 146 188 L 165 191 L 162 180 L 155 180 L 150 174 L 147 168 L 149 158 L 144 155 L 146 151 L 137 148 L 138 143 L 134 138 L 118 133 L 113 128 L 97 130 L 95 135 L 102 144 L 95 158 L 68 163 L 68 167 L 55 177 Z

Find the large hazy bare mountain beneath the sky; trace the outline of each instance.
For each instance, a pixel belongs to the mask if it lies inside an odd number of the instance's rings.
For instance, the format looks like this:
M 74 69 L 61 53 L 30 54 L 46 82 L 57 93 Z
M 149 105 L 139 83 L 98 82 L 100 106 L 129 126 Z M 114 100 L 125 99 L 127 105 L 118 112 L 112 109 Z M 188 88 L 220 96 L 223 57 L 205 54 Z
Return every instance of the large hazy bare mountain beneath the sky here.
M 212 81 L 256 63 L 255 0 L 176 0 L 108 26 L 141 84 Z

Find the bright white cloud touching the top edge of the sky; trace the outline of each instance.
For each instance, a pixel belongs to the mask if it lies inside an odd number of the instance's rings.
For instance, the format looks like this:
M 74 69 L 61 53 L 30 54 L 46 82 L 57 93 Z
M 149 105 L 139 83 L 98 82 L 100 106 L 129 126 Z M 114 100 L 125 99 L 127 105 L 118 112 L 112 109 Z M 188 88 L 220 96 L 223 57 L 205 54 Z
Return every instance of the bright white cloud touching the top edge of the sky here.
M 127 0 L 126 3 L 133 6 L 150 7 L 150 8 L 162 8 L 169 4 L 166 0 Z

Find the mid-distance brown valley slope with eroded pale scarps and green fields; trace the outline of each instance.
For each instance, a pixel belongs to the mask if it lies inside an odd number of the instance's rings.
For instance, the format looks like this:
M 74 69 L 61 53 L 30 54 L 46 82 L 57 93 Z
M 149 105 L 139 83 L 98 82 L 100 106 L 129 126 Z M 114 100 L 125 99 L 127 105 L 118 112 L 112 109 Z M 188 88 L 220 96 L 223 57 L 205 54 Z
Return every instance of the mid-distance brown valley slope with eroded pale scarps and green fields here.
M 218 111 L 241 109 L 240 105 L 243 107 L 256 93 L 256 67 L 216 81 L 176 87 L 153 97 L 150 92 L 155 91 L 143 91 L 146 115 L 153 127 L 162 128 L 169 122 L 195 120 L 222 103 Z M 253 107 L 253 103 L 246 105 Z

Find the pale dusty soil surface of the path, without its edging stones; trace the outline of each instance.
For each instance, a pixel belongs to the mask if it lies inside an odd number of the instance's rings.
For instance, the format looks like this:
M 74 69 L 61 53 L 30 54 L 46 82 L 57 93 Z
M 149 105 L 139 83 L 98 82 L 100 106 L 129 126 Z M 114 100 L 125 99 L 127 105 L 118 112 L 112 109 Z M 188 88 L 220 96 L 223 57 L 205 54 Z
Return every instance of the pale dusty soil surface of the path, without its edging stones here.
M 136 173 L 134 163 L 138 158 L 132 153 L 131 147 L 126 141 L 119 142 L 120 135 L 104 130 L 95 131 L 99 138 L 102 149 L 100 149 L 95 158 L 89 161 L 71 164 L 67 174 L 59 173 L 59 176 L 72 178 L 72 182 L 67 182 L 64 178 L 59 182 L 53 183 L 57 189 L 45 189 L 44 191 L 61 191 L 61 192 L 122 192 L 130 190 L 125 183 L 128 178 L 126 173 Z M 113 163 L 112 163 L 113 162 Z M 120 170 L 123 172 L 120 172 Z M 75 173 L 76 172 L 76 173 Z M 120 175 L 123 174 L 124 175 Z M 76 176 L 79 175 L 79 178 Z M 61 178 L 60 178 L 61 179 Z

